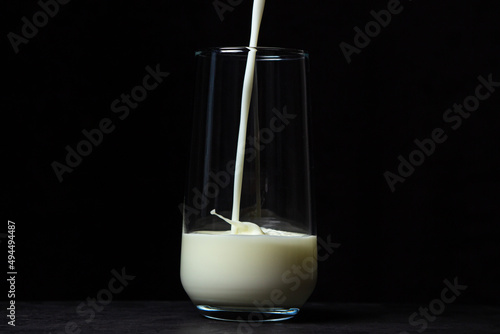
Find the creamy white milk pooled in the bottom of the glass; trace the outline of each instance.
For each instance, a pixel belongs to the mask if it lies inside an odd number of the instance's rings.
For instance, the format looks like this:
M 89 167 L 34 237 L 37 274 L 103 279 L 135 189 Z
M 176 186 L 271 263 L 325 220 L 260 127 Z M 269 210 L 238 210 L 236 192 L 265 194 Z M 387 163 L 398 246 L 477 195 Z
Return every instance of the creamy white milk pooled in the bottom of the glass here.
M 193 303 L 301 307 L 316 285 L 316 236 L 276 233 L 280 236 L 183 234 L 181 281 Z

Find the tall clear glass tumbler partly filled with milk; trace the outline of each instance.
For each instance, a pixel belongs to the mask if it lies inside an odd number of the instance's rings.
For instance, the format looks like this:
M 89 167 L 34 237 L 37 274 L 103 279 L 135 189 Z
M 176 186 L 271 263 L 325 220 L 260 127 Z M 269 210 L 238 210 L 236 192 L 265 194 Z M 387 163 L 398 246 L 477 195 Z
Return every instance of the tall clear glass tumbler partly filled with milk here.
M 243 79 L 254 52 L 239 220 L 265 234 L 231 232 Z M 206 317 L 293 317 L 317 277 L 311 210 L 308 55 L 234 47 L 196 53 L 193 133 L 183 212 L 181 281 Z

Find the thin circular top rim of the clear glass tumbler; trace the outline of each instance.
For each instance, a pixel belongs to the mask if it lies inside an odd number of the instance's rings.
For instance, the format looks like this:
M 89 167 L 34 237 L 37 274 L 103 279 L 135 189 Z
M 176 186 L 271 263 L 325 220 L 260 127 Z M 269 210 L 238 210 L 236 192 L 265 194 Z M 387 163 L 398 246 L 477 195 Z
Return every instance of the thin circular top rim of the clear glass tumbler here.
M 269 47 L 269 46 L 229 46 L 229 47 L 208 47 L 197 50 L 195 56 L 208 56 L 208 55 L 235 55 L 246 56 L 250 50 L 257 50 L 257 58 L 307 58 L 309 53 L 302 49 L 283 48 L 283 47 Z

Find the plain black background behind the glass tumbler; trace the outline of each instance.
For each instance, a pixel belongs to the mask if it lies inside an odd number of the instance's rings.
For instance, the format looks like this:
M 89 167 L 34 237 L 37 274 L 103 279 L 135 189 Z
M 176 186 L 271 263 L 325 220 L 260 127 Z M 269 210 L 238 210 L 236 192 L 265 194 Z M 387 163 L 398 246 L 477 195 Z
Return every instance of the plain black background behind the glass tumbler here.
M 474 94 L 478 76 L 500 81 L 500 6 L 402 1 L 348 64 L 339 44 L 353 44 L 353 28 L 387 3 L 268 0 L 264 11 L 259 44 L 311 58 L 317 230 L 341 244 L 320 263 L 311 300 L 426 303 L 458 277 L 468 286 L 459 302 L 497 304 L 500 88 L 457 130 L 442 116 Z M 40 7 L 1 6 L 1 232 L 6 219 L 16 222 L 17 299 L 95 297 L 122 267 L 136 278 L 115 298 L 186 299 L 178 205 L 194 51 L 247 44 L 252 2 L 221 21 L 209 0 L 74 0 L 18 54 L 7 33 L 19 34 L 21 18 Z M 169 77 L 119 120 L 111 102 L 156 64 Z M 114 132 L 60 183 L 51 163 L 106 117 Z M 383 173 L 437 127 L 448 139 L 391 192 Z

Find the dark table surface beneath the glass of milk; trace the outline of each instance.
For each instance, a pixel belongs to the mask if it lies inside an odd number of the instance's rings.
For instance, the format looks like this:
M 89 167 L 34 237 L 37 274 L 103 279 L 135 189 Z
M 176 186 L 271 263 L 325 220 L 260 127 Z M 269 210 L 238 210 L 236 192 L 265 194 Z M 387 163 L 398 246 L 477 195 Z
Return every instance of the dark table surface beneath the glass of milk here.
M 485 305 L 446 305 L 412 326 L 410 315 L 429 305 L 307 303 L 295 319 L 237 323 L 206 319 L 187 301 L 111 301 L 94 314 L 81 303 L 17 302 L 16 326 L 3 316 L 0 333 L 500 333 L 500 307 Z

